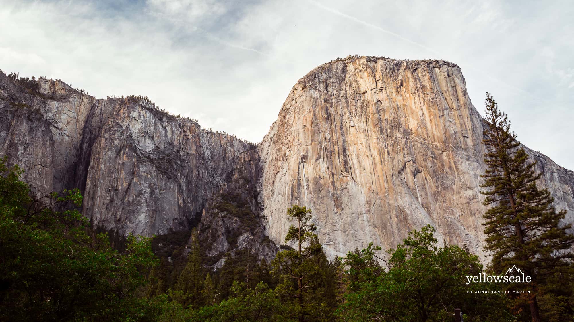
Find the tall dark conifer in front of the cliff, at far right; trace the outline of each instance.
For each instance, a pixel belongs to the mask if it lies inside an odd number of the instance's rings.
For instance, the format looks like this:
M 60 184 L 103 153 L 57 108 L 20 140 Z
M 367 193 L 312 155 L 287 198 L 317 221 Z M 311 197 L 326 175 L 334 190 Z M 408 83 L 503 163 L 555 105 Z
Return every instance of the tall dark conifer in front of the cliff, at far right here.
M 503 274 L 516 265 L 532 277 L 528 288 L 528 304 L 532 321 L 541 321 L 537 294 L 546 278 L 568 265 L 573 254 L 568 248 L 574 235 L 568 234 L 571 225 L 560 225 L 566 211 L 552 205 L 554 199 L 546 189 L 538 189 L 536 162 L 529 162 L 528 154 L 510 131 L 510 121 L 499 111 L 492 96 L 486 94 L 486 121 L 483 143 L 487 148 L 484 162 L 487 170 L 482 176 L 486 188 L 484 213 L 487 234 L 486 249 L 493 253 L 491 269 Z M 560 252 L 559 252 L 560 251 Z

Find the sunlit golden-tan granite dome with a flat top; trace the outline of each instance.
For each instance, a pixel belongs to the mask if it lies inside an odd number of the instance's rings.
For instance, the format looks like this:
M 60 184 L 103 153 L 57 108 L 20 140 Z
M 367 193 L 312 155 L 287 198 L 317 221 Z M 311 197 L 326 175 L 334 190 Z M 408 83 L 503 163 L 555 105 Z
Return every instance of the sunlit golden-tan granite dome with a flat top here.
M 285 209 L 313 209 L 328 256 L 391 248 L 430 224 L 440 243 L 484 255 L 483 120 L 460 68 L 441 60 L 347 57 L 301 78 L 259 146 L 263 214 L 280 242 Z M 574 173 L 528 150 L 574 219 Z

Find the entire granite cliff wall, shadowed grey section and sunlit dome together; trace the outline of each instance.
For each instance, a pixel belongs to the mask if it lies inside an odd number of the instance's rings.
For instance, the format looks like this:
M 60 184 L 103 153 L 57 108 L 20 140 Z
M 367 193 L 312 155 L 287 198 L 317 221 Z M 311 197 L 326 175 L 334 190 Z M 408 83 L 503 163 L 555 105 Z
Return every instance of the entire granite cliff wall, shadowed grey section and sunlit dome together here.
M 428 223 L 441 241 L 484 254 L 483 120 L 450 62 L 320 65 L 257 148 L 142 97 L 95 99 L 59 80 L 0 72 L 0 111 L 0 154 L 33 193 L 78 187 L 94 225 L 123 235 L 197 227 L 216 267 L 239 249 L 272 258 L 292 204 L 313 209 L 327 256 L 390 248 Z M 574 222 L 574 172 L 528 153 Z

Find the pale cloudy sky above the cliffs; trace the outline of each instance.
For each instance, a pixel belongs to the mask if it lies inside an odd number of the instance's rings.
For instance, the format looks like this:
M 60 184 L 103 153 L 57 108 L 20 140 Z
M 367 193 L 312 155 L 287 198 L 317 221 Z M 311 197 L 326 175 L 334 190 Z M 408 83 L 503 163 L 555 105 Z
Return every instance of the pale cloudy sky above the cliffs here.
M 0 0 L 0 69 L 142 95 L 260 142 L 298 78 L 348 54 L 458 64 L 518 139 L 574 170 L 570 1 Z

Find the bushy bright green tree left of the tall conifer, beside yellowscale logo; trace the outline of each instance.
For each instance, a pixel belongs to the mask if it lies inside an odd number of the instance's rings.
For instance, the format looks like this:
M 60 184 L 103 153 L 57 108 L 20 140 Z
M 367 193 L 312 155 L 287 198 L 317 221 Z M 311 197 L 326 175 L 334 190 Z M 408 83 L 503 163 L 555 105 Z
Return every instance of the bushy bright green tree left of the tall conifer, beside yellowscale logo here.
M 466 284 L 466 276 L 482 272 L 478 257 L 459 246 L 437 247 L 431 226 L 414 230 L 390 249 L 387 271 L 375 263 L 375 250 L 349 252 L 343 260 L 350 289 L 337 309 L 347 321 L 448 321 L 461 308 L 470 321 L 513 320 L 505 297 L 487 284 Z

